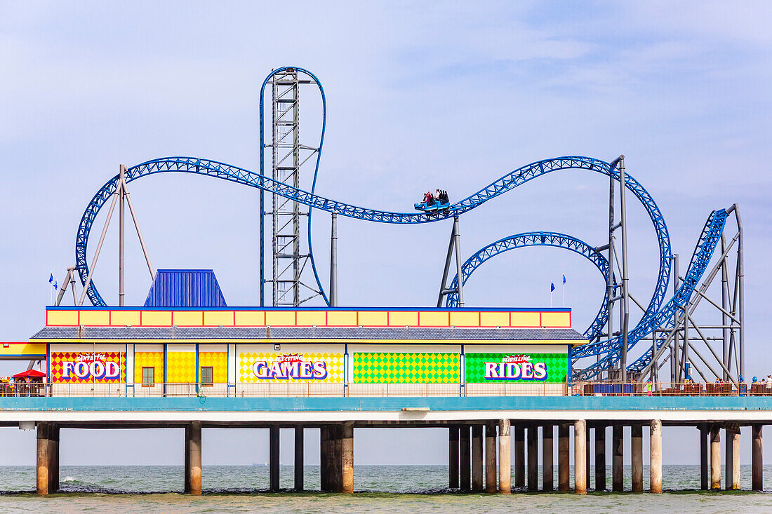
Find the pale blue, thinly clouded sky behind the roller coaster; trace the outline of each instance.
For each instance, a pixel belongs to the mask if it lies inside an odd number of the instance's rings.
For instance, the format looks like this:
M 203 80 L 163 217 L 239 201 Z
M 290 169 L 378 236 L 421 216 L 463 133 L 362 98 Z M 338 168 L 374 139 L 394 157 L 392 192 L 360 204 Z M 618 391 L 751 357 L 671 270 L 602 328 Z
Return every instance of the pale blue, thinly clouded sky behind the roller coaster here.
M 457 200 L 543 158 L 625 154 L 682 260 L 710 211 L 739 204 L 746 375 L 772 373 L 764 326 L 770 21 L 766 2 L 0 1 L 0 338 L 25 340 L 42 326 L 49 273 L 61 280 L 73 265 L 83 208 L 119 164 L 189 155 L 256 171 L 259 87 L 271 69 L 290 65 L 313 71 L 327 96 L 317 192 L 328 198 L 411 211 L 423 191 L 442 188 Z M 317 134 L 318 93 L 303 95 L 301 130 Z M 258 303 L 256 190 L 168 174 L 134 182 L 130 192 L 155 267 L 212 268 L 230 305 Z M 607 221 L 601 175 L 550 174 L 464 215 L 462 255 L 533 230 L 601 245 Z M 314 223 L 326 270 L 329 217 Z M 648 300 L 656 239 L 635 201 L 628 224 L 631 293 Z M 340 218 L 340 305 L 432 306 L 450 229 L 449 221 L 404 227 Z M 91 252 L 94 242 L 96 235 Z M 135 238 L 127 248 L 127 304 L 141 304 L 151 281 Z M 547 306 L 550 282 L 563 274 L 582 331 L 604 281 L 570 252 L 500 255 L 470 279 L 466 303 Z M 94 279 L 117 303 L 114 228 Z M 17 367 L 0 364 L 0 374 Z M 34 435 L 3 431 L 19 445 L 0 464 L 32 464 Z M 78 433 L 63 445 L 63 462 L 103 463 L 80 451 L 86 441 Z M 124 434 L 147 446 L 110 457 L 115 462 L 181 460 L 169 449 L 181 436 L 171 431 Z M 205 451 L 205 464 L 267 455 L 262 432 L 234 432 L 252 453 L 212 434 L 218 451 Z M 445 462 L 438 434 L 362 431 L 357 462 L 395 455 L 402 463 Z M 107 447 L 116 438 L 95 432 L 89 444 Z M 376 440 L 383 445 L 368 443 Z M 665 438 L 666 463 L 695 460 L 681 441 L 697 439 Z

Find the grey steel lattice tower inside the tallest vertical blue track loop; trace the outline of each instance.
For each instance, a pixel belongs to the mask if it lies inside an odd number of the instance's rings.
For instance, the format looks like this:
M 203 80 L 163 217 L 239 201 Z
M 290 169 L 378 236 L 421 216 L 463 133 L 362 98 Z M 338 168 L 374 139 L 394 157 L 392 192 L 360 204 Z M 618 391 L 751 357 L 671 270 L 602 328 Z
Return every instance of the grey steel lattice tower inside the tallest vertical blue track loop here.
M 300 189 L 303 178 L 309 181 L 303 177 L 303 164 L 319 150 L 300 143 L 300 86 L 312 81 L 297 69 L 287 68 L 273 74 L 269 83 L 272 140 L 266 146 L 271 148 L 271 178 Z M 301 234 L 308 222 L 308 210 L 278 194 L 271 197 L 271 210 L 266 215 L 271 217 L 272 225 L 273 306 L 299 306 L 320 294 L 310 283 L 303 282 L 309 252 Z

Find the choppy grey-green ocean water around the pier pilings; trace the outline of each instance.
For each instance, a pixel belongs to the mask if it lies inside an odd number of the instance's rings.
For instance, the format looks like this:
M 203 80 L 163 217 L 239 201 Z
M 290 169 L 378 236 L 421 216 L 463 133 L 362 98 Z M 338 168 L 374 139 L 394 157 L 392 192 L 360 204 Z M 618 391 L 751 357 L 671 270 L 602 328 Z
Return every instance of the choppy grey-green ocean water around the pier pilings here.
M 269 493 L 266 466 L 205 466 L 204 495 L 194 497 L 181 494 L 181 466 L 62 466 L 62 492 L 39 498 L 34 467 L 3 466 L 0 512 L 772 512 L 772 495 L 764 492 L 698 491 L 699 466 L 690 465 L 663 468 L 662 495 L 461 493 L 446 489 L 446 466 L 367 465 L 354 467 L 356 493 L 340 495 L 313 492 L 319 467 L 305 472 L 310 492 Z M 610 487 L 610 467 L 607 475 Z M 629 489 L 629 467 L 625 476 Z M 283 466 L 282 487 L 289 489 L 292 480 L 292 466 Z M 772 466 L 765 466 L 764 481 L 772 492 Z M 750 489 L 750 466 L 742 468 L 741 485 Z

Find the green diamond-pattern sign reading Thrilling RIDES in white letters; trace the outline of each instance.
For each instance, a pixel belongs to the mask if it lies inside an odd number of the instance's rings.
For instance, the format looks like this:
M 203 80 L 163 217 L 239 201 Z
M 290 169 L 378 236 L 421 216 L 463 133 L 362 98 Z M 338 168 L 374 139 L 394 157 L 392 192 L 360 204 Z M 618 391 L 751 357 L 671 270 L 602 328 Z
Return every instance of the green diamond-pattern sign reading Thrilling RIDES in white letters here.
M 466 381 L 563 382 L 566 353 L 466 353 Z

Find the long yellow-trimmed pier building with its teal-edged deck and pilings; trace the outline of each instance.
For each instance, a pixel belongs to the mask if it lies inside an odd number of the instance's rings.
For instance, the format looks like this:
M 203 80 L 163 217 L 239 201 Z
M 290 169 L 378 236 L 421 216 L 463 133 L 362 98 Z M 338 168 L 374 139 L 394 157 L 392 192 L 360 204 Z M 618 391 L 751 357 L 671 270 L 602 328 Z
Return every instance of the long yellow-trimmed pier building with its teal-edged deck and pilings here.
M 319 429 L 322 490 L 353 492 L 355 428 L 442 427 L 450 488 L 581 493 L 592 478 L 596 490 L 622 490 L 626 451 L 632 490 L 643 490 L 644 428 L 648 489 L 661 492 L 663 426 L 697 429 L 705 489 L 721 487 L 724 431 L 726 488 L 739 489 L 749 427 L 762 488 L 769 397 L 577 383 L 571 354 L 584 343 L 564 308 L 52 306 L 29 342 L 4 344 L 3 358 L 45 361 L 46 377 L 2 398 L 0 424 L 37 429 L 40 494 L 59 488 L 60 431 L 78 428 L 184 429 L 181 489 L 200 494 L 204 428 L 268 429 L 269 490 L 279 489 L 281 428 L 295 431 L 294 489 L 304 489 L 305 431 Z

